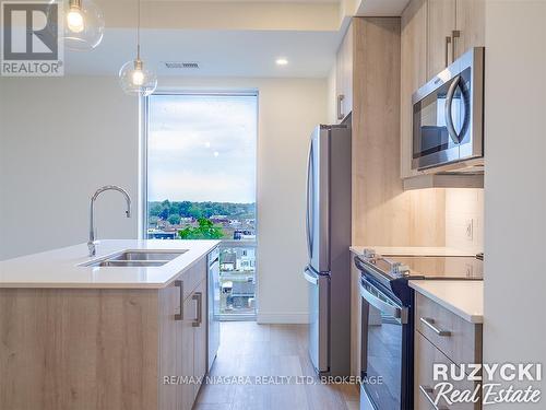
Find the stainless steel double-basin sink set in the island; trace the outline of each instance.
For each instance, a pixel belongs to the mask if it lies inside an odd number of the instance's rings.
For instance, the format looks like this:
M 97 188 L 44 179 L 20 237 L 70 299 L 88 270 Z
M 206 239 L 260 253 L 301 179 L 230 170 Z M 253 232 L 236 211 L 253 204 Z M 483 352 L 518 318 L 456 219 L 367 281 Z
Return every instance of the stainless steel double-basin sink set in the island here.
M 103 258 L 94 259 L 81 267 L 158 267 L 183 255 L 188 249 L 127 249 Z

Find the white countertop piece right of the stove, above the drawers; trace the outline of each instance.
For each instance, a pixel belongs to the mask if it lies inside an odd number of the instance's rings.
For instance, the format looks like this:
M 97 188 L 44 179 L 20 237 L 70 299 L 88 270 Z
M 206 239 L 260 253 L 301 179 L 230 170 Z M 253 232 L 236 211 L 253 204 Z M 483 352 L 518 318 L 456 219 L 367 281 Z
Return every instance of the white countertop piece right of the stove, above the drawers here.
M 484 323 L 484 281 L 411 280 L 410 286 L 466 321 Z

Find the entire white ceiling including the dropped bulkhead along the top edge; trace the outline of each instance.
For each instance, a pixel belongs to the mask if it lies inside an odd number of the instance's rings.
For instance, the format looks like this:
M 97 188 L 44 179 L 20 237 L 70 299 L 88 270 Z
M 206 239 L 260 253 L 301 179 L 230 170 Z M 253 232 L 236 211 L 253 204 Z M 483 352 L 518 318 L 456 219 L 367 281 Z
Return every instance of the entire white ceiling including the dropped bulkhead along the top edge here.
M 355 0 L 354 5 L 358 15 L 400 15 L 407 1 Z M 97 2 L 107 21 L 103 43 L 91 52 L 67 50 L 68 74 L 116 75 L 135 57 L 135 12 L 128 4 L 135 7 L 136 0 Z M 143 0 L 142 58 L 158 75 L 324 78 L 349 20 L 344 8 L 328 5 L 339 2 Z M 288 65 L 276 66 L 280 57 Z M 165 61 L 199 62 L 200 69 L 168 70 Z

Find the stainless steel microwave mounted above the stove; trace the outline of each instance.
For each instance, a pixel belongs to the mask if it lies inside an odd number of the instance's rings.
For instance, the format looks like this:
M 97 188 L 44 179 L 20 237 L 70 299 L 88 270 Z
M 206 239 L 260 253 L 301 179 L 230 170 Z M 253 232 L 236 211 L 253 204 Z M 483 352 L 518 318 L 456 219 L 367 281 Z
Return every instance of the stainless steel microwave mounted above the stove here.
M 484 47 L 462 55 L 413 94 L 413 169 L 484 156 Z M 456 168 L 456 166 L 451 166 Z

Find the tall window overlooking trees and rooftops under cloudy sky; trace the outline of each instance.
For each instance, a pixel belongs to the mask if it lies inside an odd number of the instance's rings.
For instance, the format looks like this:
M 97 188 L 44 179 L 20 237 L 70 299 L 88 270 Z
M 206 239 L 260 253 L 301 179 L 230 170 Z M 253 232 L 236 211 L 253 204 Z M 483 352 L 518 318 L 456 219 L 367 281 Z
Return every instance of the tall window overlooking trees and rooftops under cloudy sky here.
M 222 239 L 221 313 L 254 314 L 258 98 L 154 94 L 146 102 L 145 235 Z

